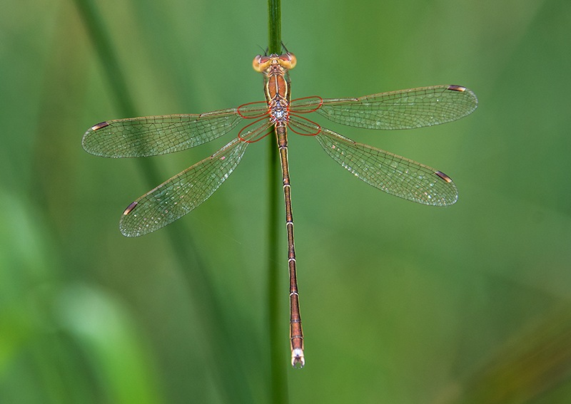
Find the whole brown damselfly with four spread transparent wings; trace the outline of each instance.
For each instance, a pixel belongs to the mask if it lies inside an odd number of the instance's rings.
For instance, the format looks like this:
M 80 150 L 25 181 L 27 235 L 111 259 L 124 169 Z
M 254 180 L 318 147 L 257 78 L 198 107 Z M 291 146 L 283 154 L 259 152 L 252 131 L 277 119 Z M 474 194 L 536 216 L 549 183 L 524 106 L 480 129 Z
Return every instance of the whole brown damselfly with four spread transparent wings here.
M 318 140 L 323 150 L 363 182 L 406 200 L 448 206 L 458 199 L 453 181 L 443 172 L 405 157 L 356 143 L 305 118 L 318 113 L 335 123 L 367 129 L 410 129 L 463 118 L 477 107 L 475 94 L 462 86 L 411 88 L 360 98 L 318 96 L 291 100 L 288 71 L 293 53 L 256 56 L 253 67 L 263 73 L 265 102 L 203 114 L 162 115 L 109 120 L 86 131 L 84 149 L 103 157 L 162 155 L 201 145 L 251 121 L 216 153 L 197 162 L 132 202 L 119 228 L 127 237 L 148 234 L 179 219 L 206 201 L 233 172 L 246 148 L 276 133 L 283 175 L 290 272 L 290 344 L 292 365 L 303 367 L 303 332 L 293 242 L 293 212 L 288 167 L 288 129 Z M 246 120 L 246 121 L 245 121 Z

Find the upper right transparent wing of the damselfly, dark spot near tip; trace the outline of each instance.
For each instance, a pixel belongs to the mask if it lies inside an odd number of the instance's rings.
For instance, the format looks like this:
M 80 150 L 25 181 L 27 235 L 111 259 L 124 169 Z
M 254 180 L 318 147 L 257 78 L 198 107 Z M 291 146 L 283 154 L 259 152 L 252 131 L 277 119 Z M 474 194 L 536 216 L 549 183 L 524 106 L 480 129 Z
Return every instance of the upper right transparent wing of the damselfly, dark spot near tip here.
M 293 110 L 315 109 L 328 120 L 367 129 L 411 129 L 439 125 L 473 113 L 477 98 L 462 86 L 410 88 L 360 98 L 301 98 Z

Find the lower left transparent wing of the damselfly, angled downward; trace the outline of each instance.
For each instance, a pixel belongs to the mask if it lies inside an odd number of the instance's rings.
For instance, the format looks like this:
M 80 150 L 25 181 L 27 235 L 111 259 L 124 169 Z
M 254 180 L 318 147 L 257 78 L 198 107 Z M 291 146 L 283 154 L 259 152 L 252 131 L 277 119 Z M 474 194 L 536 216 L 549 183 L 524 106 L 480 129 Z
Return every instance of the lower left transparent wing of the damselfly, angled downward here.
M 119 223 L 126 237 L 154 232 L 206 201 L 236 168 L 249 143 L 238 138 L 131 203 Z

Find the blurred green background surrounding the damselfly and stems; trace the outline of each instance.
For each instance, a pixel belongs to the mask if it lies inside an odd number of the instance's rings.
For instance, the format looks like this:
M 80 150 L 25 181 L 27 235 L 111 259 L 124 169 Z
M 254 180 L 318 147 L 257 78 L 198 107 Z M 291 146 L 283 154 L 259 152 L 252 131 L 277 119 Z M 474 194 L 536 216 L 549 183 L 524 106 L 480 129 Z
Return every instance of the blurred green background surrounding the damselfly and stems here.
M 289 400 L 569 403 L 571 2 L 282 6 L 294 98 L 460 84 L 480 101 L 434 128 L 328 124 L 446 172 L 449 208 L 368 187 L 291 136 L 307 363 L 289 365 L 280 222 Z M 266 1 L 97 10 L 138 115 L 263 99 Z M 119 216 L 153 185 L 136 160 L 81 148 L 91 125 L 127 118 L 102 66 L 73 1 L 0 5 L 0 402 L 269 403 L 267 143 L 171 224 L 185 239 L 126 239 Z M 230 137 L 153 157 L 158 182 Z

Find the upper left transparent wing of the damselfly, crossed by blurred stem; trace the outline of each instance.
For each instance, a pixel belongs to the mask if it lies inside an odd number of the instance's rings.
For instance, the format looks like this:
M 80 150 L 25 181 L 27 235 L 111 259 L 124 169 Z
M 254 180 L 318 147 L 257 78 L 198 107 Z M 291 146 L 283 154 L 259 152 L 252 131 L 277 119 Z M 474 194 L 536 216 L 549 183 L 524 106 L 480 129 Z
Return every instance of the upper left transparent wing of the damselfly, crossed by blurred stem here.
M 81 143 L 87 152 L 103 157 L 163 155 L 219 138 L 242 119 L 238 108 L 232 108 L 199 115 L 108 120 L 89 128 Z

